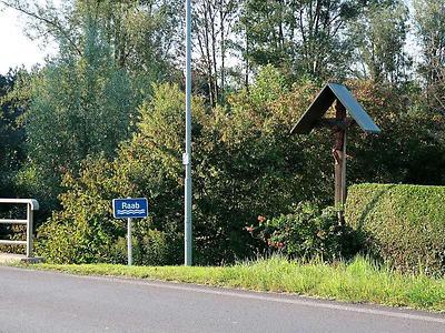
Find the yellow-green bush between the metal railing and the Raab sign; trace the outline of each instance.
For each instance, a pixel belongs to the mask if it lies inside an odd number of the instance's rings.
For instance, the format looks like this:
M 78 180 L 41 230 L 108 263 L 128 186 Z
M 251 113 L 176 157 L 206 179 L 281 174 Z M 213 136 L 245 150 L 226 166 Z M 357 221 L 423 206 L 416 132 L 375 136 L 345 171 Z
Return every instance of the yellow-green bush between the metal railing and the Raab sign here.
M 125 224 L 112 219 L 110 202 L 125 180 L 111 178 L 113 165 L 105 159 L 87 160 L 89 165 L 75 181 L 63 180 L 72 191 L 60 195 L 63 211 L 38 230 L 36 251 L 49 262 L 88 263 L 110 261 L 113 242 L 125 235 Z M 108 200 L 107 200 L 108 199 Z

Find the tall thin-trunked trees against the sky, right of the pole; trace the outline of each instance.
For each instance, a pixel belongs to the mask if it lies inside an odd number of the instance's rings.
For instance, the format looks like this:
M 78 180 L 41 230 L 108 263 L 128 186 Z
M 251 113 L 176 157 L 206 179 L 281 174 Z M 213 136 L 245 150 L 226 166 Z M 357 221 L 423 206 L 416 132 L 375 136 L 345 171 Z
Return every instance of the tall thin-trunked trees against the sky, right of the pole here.
M 197 0 L 196 89 L 210 104 L 224 102 L 227 90 L 248 90 L 258 69 L 273 64 L 289 82 L 310 78 L 415 84 L 426 93 L 428 109 L 437 111 L 444 107 L 445 1 L 411 4 L 403 0 Z M 421 58 L 409 52 L 415 48 Z

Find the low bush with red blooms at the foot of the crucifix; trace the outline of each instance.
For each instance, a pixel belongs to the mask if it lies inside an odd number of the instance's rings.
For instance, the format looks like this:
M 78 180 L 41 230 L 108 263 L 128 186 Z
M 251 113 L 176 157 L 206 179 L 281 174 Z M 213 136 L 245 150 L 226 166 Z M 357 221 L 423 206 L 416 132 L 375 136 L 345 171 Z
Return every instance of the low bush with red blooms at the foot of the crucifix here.
M 263 239 L 269 252 L 279 252 L 289 259 L 348 259 L 360 250 L 360 243 L 348 226 L 338 224 L 337 214 L 334 208 L 322 210 L 304 202 L 290 214 L 270 220 L 258 216 L 259 226 L 247 230 Z

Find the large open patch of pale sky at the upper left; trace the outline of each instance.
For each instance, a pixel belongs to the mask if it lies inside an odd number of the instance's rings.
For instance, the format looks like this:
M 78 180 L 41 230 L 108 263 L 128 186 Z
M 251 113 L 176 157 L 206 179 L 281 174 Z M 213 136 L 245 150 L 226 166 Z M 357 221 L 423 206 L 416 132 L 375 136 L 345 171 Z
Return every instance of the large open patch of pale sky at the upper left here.
M 41 41 L 30 40 L 24 28 L 23 17 L 0 4 L 0 74 L 22 64 L 31 69 L 36 63 L 44 63 L 47 54 L 55 53 L 55 46 L 44 47 Z

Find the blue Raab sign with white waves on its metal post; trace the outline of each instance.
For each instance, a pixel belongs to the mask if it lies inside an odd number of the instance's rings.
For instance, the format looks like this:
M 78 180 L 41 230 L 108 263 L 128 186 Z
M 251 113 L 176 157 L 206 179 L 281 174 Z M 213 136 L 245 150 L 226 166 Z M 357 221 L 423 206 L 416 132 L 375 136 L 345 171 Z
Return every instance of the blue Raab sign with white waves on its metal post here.
M 128 265 L 132 265 L 131 223 L 132 219 L 145 219 L 148 216 L 148 201 L 146 198 L 138 199 L 113 199 L 112 214 L 115 219 L 127 219 L 127 255 Z

